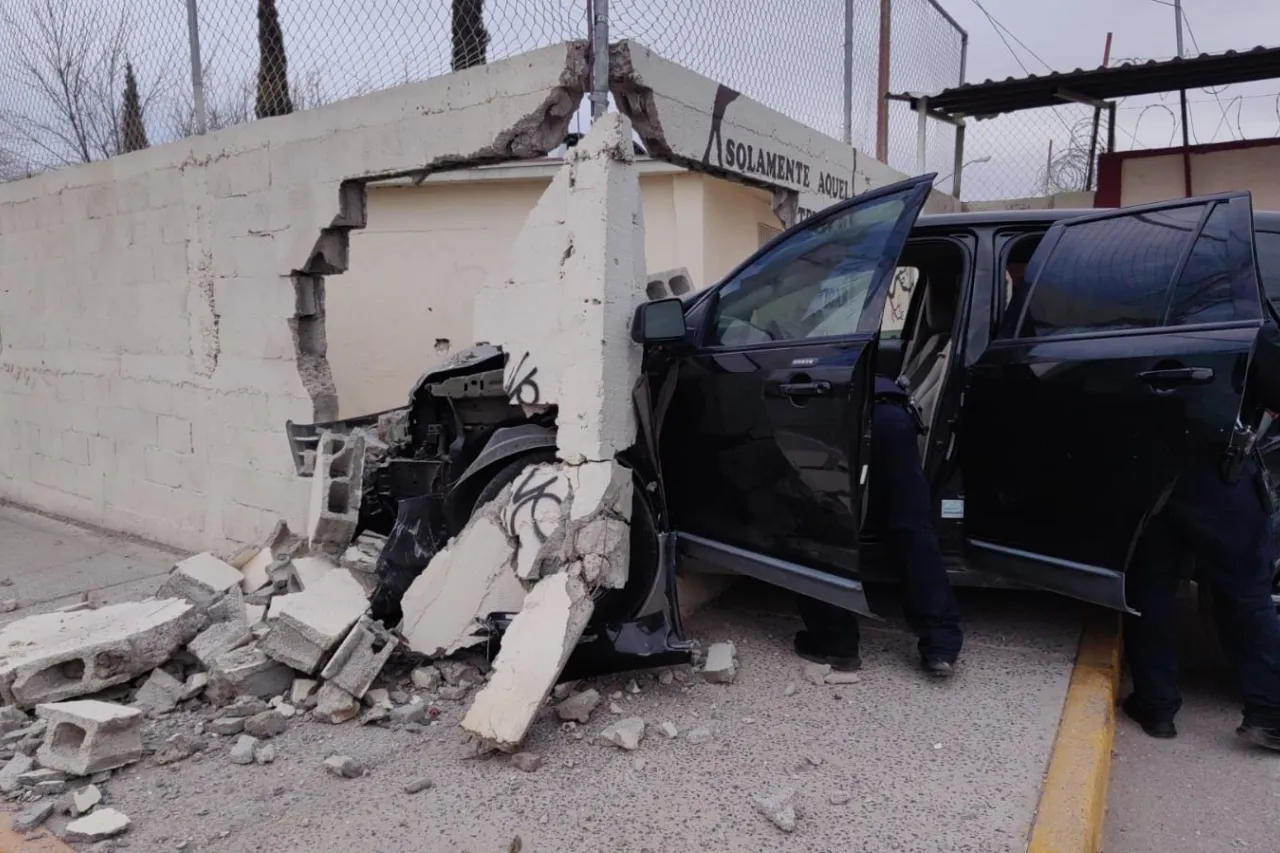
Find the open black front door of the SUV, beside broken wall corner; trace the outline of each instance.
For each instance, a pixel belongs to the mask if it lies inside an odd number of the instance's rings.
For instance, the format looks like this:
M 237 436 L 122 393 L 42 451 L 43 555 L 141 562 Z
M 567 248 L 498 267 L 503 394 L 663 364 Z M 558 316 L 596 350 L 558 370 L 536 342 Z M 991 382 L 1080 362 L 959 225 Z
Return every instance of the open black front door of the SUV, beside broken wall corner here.
M 691 313 L 662 426 L 689 556 L 868 612 L 856 581 L 876 341 L 932 175 L 783 233 Z

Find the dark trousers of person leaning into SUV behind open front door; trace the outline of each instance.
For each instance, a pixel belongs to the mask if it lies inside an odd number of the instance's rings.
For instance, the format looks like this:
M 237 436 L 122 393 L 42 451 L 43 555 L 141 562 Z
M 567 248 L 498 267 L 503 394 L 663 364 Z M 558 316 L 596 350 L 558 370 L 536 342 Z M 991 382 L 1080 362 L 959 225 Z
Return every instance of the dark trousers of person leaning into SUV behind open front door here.
M 920 656 L 960 656 L 960 605 L 942 565 L 932 521 L 929 484 L 920 466 L 915 420 L 901 406 L 877 402 L 872 415 L 868 520 L 902 569 L 902 610 L 919 638 Z M 856 654 L 858 619 L 813 598 L 799 601 L 805 630 L 833 654 Z

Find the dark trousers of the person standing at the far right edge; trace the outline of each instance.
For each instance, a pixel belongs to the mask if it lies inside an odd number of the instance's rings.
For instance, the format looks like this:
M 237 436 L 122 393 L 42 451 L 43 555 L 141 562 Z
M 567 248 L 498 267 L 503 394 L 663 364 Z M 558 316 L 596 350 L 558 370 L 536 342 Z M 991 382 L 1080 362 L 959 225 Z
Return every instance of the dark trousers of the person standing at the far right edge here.
M 1125 578 L 1125 660 L 1134 701 L 1158 720 L 1181 707 L 1174 626 L 1180 555 L 1196 557 L 1213 597 L 1224 651 L 1244 693 L 1244 724 L 1280 727 L 1280 617 L 1271 602 L 1275 540 L 1256 462 L 1229 484 L 1217 465 L 1194 465 L 1143 534 Z

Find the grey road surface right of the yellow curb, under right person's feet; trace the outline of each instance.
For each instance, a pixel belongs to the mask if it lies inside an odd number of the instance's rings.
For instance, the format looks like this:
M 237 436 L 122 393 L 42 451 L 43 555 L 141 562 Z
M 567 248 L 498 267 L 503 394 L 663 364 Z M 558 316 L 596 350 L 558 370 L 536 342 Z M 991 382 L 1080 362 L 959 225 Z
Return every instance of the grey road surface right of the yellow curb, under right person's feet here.
M 1192 602 L 1181 605 L 1179 735 L 1153 740 L 1120 715 L 1103 850 L 1274 853 L 1280 850 L 1280 754 L 1235 736 L 1240 699 L 1226 665 Z

